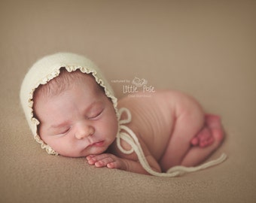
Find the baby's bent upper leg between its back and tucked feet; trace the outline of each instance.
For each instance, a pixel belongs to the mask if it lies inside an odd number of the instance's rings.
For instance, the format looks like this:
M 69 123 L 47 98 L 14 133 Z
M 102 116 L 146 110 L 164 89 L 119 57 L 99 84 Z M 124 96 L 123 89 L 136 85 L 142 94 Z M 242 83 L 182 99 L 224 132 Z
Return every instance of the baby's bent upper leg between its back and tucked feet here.
M 191 147 L 191 140 L 205 124 L 205 114 L 201 106 L 187 95 L 177 95 L 175 125 L 166 151 L 160 159 L 163 171 L 181 165 Z

